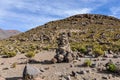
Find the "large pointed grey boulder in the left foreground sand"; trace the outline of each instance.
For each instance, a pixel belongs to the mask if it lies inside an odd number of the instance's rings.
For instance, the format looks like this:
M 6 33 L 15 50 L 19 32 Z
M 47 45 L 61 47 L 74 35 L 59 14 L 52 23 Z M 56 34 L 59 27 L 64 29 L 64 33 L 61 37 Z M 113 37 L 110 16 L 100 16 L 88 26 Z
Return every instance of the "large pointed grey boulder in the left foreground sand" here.
M 23 71 L 23 80 L 32 80 L 38 77 L 40 70 L 27 64 Z

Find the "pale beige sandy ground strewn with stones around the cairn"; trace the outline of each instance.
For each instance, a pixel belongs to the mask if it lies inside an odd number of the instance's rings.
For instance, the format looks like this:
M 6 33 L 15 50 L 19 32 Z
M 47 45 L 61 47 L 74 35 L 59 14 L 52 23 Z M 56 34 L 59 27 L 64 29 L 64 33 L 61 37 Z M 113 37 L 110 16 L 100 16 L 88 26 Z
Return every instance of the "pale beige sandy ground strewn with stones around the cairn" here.
M 82 67 L 81 65 L 87 58 L 80 58 L 79 61 L 73 61 L 71 63 L 56 63 L 49 64 L 48 61 L 51 60 L 55 55 L 53 51 L 42 51 L 39 54 L 36 54 L 34 59 L 39 61 L 39 63 L 30 64 L 31 66 L 35 66 L 44 72 L 41 72 L 41 78 L 44 80 L 60 80 L 61 75 L 69 75 L 72 71 L 80 72 L 87 71 L 90 72 L 85 74 L 78 74 L 77 79 L 72 78 L 72 80 L 120 80 L 120 77 L 115 74 L 110 73 L 102 73 L 98 72 L 94 68 Z M 95 58 L 91 58 L 93 63 L 102 63 L 105 64 L 110 59 L 113 62 L 120 62 L 119 58 L 107 58 L 106 60 L 102 60 L 103 58 L 99 58 L 98 61 Z M 24 54 L 18 54 L 13 58 L 2 58 L 0 57 L 0 75 L 5 77 L 7 80 L 18 80 L 22 77 L 23 69 L 25 67 L 24 62 L 27 60 Z M 17 63 L 16 68 L 11 68 L 13 63 Z M 22 63 L 22 64 L 21 64 Z M 102 77 L 110 76 L 110 79 L 103 79 Z M 96 79 L 95 79 L 96 78 Z

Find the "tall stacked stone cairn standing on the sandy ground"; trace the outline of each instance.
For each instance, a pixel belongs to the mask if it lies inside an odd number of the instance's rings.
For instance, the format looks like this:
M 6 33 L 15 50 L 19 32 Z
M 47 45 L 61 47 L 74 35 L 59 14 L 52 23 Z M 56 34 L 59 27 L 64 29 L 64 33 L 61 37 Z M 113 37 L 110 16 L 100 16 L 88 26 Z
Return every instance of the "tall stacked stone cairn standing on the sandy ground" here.
M 53 63 L 71 62 L 74 59 L 74 55 L 70 48 L 67 33 L 61 33 L 57 40 L 58 48 L 56 49 L 56 55 L 51 61 Z

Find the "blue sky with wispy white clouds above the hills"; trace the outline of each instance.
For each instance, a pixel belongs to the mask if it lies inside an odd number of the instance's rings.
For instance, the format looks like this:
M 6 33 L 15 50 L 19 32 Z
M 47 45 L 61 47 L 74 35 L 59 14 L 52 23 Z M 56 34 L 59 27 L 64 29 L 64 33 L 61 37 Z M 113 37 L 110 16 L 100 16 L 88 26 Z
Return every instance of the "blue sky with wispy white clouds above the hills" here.
M 24 32 L 84 13 L 120 19 L 120 0 L 0 0 L 0 28 Z

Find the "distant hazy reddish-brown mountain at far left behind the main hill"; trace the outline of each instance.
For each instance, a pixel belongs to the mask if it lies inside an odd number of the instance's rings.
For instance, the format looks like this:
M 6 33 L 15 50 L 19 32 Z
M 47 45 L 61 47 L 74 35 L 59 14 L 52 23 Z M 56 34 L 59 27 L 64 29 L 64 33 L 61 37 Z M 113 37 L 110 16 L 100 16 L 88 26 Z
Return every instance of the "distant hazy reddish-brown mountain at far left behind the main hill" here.
M 19 33 L 20 33 L 20 31 L 17 31 L 17 30 L 0 29 L 0 39 L 6 39 L 6 38 L 9 38 L 10 36 L 17 35 Z

